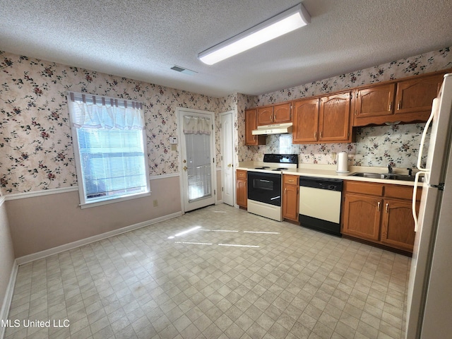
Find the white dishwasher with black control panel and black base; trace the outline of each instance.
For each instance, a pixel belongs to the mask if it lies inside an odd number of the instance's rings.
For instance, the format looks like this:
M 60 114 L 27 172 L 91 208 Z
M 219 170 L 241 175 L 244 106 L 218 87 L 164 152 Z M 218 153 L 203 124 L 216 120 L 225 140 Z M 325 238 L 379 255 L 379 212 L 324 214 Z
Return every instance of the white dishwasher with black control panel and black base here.
M 300 177 L 300 225 L 340 237 L 342 189 L 340 179 Z

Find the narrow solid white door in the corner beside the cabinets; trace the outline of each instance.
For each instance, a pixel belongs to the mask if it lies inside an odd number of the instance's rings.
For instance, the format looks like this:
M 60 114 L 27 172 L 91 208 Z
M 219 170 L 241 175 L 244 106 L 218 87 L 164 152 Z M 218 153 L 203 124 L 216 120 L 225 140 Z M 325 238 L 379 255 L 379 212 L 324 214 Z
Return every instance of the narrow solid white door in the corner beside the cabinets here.
M 234 123 L 232 111 L 220 114 L 222 150 L 222 198 L 227 205 L 234 206 Z

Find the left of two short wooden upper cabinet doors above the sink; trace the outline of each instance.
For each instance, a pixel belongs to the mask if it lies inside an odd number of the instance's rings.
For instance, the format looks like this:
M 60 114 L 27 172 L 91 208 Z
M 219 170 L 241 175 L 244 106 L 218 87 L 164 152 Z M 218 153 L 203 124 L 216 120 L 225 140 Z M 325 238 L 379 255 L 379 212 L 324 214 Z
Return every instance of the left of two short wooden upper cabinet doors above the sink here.
M 393 114 L 396 83 L 360 88 L 355 95 L 355 120 Z

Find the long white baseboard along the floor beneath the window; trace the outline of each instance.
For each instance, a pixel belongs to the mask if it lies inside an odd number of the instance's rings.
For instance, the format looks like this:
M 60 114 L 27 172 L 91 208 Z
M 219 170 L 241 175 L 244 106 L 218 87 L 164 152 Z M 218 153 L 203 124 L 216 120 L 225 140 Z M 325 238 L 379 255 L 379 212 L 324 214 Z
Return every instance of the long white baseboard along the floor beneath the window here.
M 92 242 L 97 242 L 102 239 L 113 237 L 114 235 L 122 234 L 125 232 L 130 232 L 132 230 L 136 230 L 138 228 L 145 227 L 148 225 L 153 225 L 157 222 L 176 218 L 176 217 L 179 217 L 180 215 L 182 215 L 182 211 L 172 213 L 169 215 L 165 215 L 160 218 L 155 218 L 153 220 L 138 222 L 138 224 L 121 227 L 118 230 L 112 230 L 112 231 L 105 232 L 102 234 L 97 234 L 97 235 L 94 235 L 93 237 L 88 237 L 85 239 L 77 240 L 76 242 L 70 242 L 69 244 L 64 244 L 61 246 L 53 247 L 52 249 L 46 249 L 44 251 L 40 251 L 40 252 L 33 253 L 33 254 L 28 254 L 26 256 L 20 256 L 19 258 L 16 258 L 16 263 L 17 263 L 17 265 L 23 265 L 24 263 L 30 263 L 30 261 L 35 261 L 38 259 L 45 258 L 47 256 L 52 256 L 54 254 L 58 254 L 60 252 L 67 251 L 69 249 L 76 249 L 77 247 L 84 246 L 84 245 L 90 244 Z

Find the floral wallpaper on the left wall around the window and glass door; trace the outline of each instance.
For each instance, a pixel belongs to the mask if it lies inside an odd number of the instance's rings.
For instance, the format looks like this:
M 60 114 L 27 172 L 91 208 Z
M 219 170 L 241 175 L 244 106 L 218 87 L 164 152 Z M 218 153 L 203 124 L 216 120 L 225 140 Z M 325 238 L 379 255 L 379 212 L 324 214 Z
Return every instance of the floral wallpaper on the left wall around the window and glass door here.
M 3 194 L 77 184 L 66 93 L 69 90 L 141 101 L 145 106 L 150 175 L 179 172 L 177 107 L 225 112 L 225 100 L 0 52 L 0 186 Z M 216 149 L 220 155 L 219 119 Z

